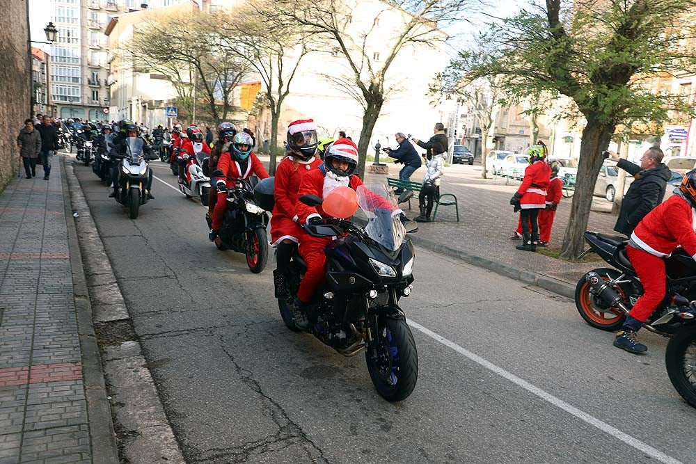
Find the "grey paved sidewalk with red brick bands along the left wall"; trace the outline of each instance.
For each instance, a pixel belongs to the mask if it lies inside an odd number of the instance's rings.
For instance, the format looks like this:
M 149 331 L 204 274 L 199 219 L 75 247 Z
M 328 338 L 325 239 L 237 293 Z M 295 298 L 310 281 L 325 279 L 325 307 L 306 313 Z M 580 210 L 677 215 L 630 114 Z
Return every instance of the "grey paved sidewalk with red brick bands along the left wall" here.
M 0 194 L 0 237 L 0 464 L 118 463 L 61 155 Z

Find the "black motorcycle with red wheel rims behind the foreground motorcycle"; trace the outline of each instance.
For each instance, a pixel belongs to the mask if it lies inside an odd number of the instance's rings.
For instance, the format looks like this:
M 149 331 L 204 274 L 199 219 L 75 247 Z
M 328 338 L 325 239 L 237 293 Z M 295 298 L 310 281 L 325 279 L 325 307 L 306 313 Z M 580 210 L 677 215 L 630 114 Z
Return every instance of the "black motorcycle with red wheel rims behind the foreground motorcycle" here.
M 214 170 L 213 177 L 224 178 L 225 175 L 221 170 Z M 247 179 L 228 179 L 235 181 L 235 186 L 226 189 L 227 209 L 215 245 L 219 250 L 244 253 L 249 270 L 258 274 L 264 270 L 268 260 L 266 227 L 269 216 L 255 200 L 251 182 Z M 205 220 L 208 228 L 212 228 L 212 218 L 206 214 Z

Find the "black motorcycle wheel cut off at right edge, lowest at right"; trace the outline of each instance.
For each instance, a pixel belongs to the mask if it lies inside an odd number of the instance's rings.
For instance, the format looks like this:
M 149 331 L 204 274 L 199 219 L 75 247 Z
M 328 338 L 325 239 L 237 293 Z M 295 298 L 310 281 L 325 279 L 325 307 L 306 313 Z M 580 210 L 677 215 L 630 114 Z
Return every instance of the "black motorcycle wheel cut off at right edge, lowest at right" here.
M 665 366 L 674 388 L 696 408 L 696 326 L 683 327 L 670 339 Z

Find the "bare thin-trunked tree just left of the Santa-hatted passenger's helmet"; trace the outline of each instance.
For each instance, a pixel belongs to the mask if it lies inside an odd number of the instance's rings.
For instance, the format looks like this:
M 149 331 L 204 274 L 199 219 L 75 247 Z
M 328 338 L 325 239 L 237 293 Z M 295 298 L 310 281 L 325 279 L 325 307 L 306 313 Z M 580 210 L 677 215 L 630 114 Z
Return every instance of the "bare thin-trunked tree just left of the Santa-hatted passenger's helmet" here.
M 234 15 L 217 13 L 221 45 L 227 53 L 246 60 L 261 77 L 265 102 L 271 112 L 271 160 L 269 173 L 276 172 L 278 123 L 283 101 L 290 93 L 303 56 L 308 53 L 305 39 L 292 25 L 272 15 L 273 1 L 256 0 L 235 9 Z

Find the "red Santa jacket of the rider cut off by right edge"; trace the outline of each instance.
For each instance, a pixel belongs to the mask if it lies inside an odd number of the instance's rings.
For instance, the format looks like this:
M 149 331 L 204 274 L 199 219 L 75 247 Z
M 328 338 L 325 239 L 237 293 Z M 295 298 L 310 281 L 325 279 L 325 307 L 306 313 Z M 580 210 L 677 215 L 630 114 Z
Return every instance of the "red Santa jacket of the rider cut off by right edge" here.
M 679 195 L 672 195 L 642 218 L 629 245 L 651 255 L 668 257 L 677 246 L 696 259 L 696 210 Z

